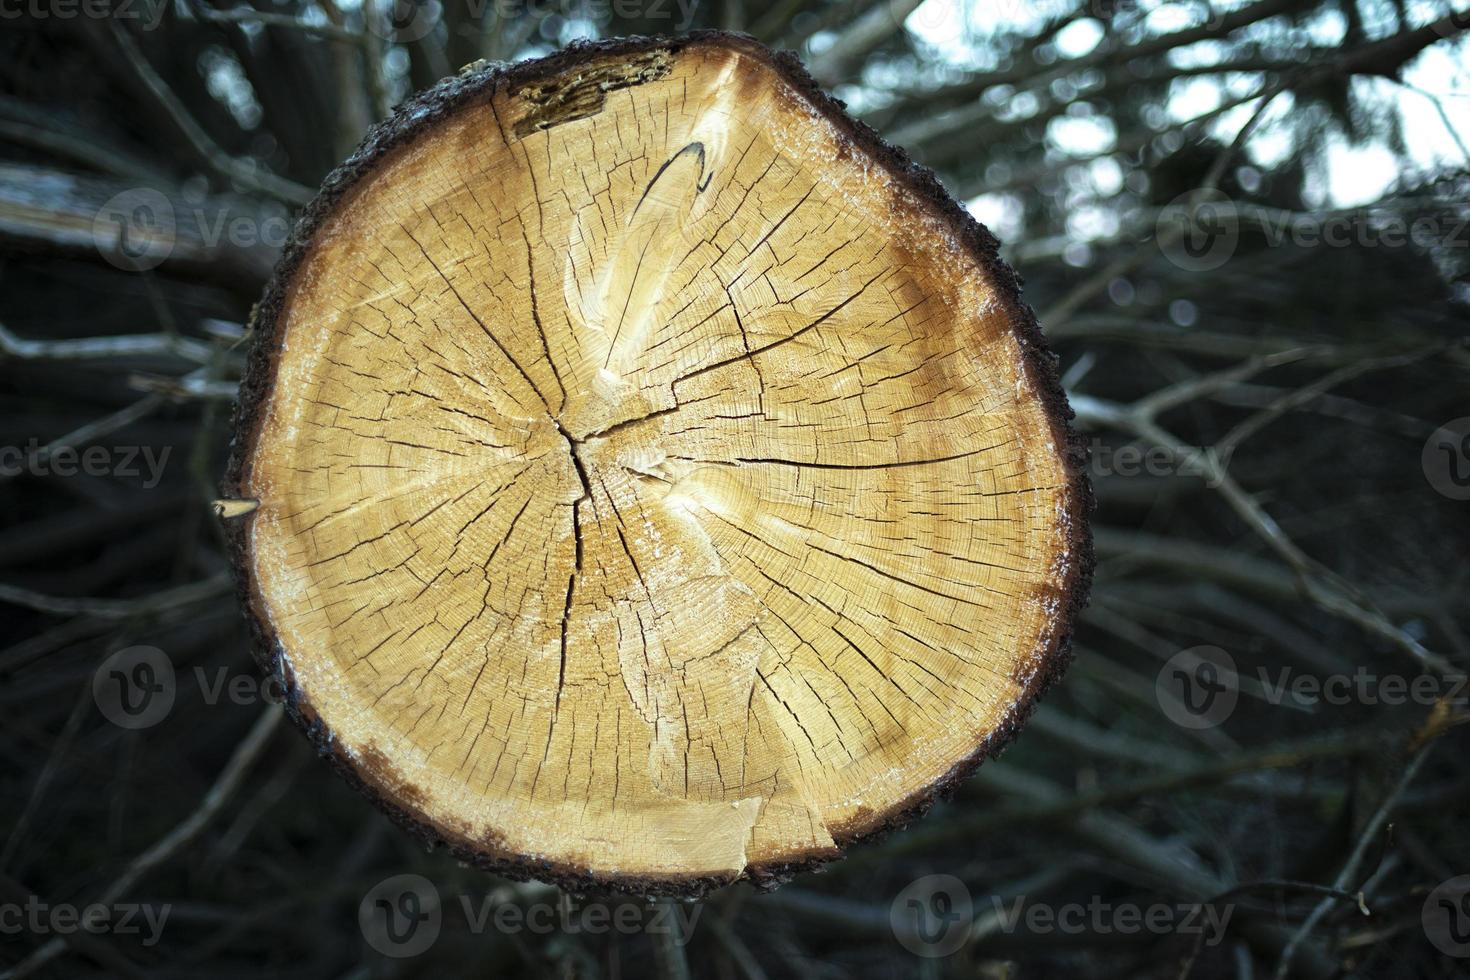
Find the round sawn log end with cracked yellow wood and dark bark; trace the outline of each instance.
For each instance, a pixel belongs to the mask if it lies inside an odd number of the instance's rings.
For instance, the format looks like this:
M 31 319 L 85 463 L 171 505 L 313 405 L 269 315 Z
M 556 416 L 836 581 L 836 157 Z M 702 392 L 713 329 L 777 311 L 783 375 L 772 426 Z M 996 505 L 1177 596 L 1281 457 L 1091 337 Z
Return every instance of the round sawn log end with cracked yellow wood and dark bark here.
M 322 752 L 460 858 L 772 884 L 1064 666 L 1054 360 L 995 239 L 794 57 L 470 66 L 303 222 L 223 483 L 241 597 Z

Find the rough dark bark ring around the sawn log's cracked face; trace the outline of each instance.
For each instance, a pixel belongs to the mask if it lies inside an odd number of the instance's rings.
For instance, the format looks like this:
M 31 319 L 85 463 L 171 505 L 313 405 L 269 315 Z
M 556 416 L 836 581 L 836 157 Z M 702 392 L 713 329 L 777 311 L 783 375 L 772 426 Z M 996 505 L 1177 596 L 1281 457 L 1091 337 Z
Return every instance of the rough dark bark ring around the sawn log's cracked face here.
M 1066 574 L 1058 599 L 1058 613 L 1042 645 L 1026 661 L 1028 677 L 1007 720 L 986 735 L 970 755 L 956 763 L 948 773 L 907 799 L 876 811 L 863 820 L 832 832 L 838 851 L 860 840 L 875 840 L 906 827 L 922 817 L 935 802 L 951 796 L 986 758 L 995 758 L 1016 738 L 1035 711 L 1041 696 L 1063 674 L 1072 660 L 1072 633 L 1078 616 L 1086 604 L 1092 582 L 1092 535 L 1088 527 L 1094 500 L 1086 478 L 1086 447 L 1072 430 L 1073 411 L 1057 375 L 1057 359 L 1047 345 L 1032 309 L 1022 300 L 1020 276 L 998 254 L 1000 242 L 969 212 L 945 192 L 932 170 L 910 160 L 908 154 L 878 135 L 870 126 L 847 115 L 844 103 L 828 96 L 789 51 L 772 51 L 742 34 L 697 31 L 678 38 L 614 38 L 576 43 L 542 59 L 517 65 L 476 63 L 456 76 L 419 93 L 404 101 L 390 119 L 378 123 L 362 145 L 323 182 L 320 194 L 301 213 L 295 234 L 287 245 L 265 295 L 251 314 L 251 348 L 240 386 L 240 401 L 234 416 L 234 438 L 229 463 L 220 492 L 244 497 L 244 483 L 254 453 L 259 426 L 275 386 L 276 354 L 281 350 L 284 310 L 291 284 L 304 262 L 318 231 L 328 222 L 344 195 L 366 176 L 376 163 L 395 147 L 409 143 L 454 110 L 491 97 L 498 87 L 517 87 L 554 76 L 562 71 L 598 56 L 631 56 L 653 48 L 676 54 L 689 47 L 734 48 L 770 66 L 778 76 L 814 106 L 836 129 L 860 150 L 885 166 L 897 181 L 925 200 L 956 232 L 964 248 L 985 270 L 989 285 L 1005 309 L 1010 328 L 1020 344 L 1028 382 L 1042 403 L 1051 423 L 1053 438 L 1063 455 L 1069 483 L 1066 488 L 1064 532 L 1067 552 L 1063 555 Z M 293 721 L 306 732 L 318 752 L 359 792 L 387 813 L 395 823 L 429 845 L 444 845 L 456 858 L 487 871 L 516 880 L 538 879 L 570 892 L 617 892 L 642 895 L 673 895 L 695 898 L 748 879 L 760 889 L 772 889 L 795 874 L 814 870 L 833 860 L 832 854 L 792 854 L 779 862 L 751 864 L 739 876 L 609 876 L 591 868 L 532 860 L 507 851 L 492 849 L 438 827 L 394 799 L 391 788 L 363 771 L 335 742 L 332 733 L 316 716 L 304 692 L 295 685 L 284 657 L 281 642 L 270 627 L 263 602 L 254 589 L 248 527 L 253 517 L 226 520 L 225 533 L 235 570 L 235 591 L 250 626 L 253 652 L 262 669 L 273 676 L 287 692 L 285 707 Z

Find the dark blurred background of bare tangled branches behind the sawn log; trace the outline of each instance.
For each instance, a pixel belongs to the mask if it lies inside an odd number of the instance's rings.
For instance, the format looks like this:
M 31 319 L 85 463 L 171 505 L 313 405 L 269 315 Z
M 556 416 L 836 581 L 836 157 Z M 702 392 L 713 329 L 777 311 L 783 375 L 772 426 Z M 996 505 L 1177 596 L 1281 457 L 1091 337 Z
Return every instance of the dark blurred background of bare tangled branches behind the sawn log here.
M 1263 679 L 1452 693 L 1470 661 L 1470 504 L 1433 469 L 1436 430 L 1470 414 L 1467 25 L 1441 0 L 4 0 L 0 447 L 24 466 L 0 473 L 0 899 L 173 914 L 153 946 L 4 934 L 0 964 L 1464 976 L 1423 924 L 1430 889 L 1470 873 L 1464 692 L 1329 704 Z M 385 876 L 559 899 L 423 854 L 275 708 L 209 693 L 256 677 L 209 511 L 250 306 L 294 212 L 406 94 L 476 59 L 695 28 L 797 50 L 1003 238 L 1094 448 L 1078 660 L 954 801 L 773 895 L 717 893 L 684 946 L 447 915 L 429 952 L 384 958 L 357 908 Z M 119 207 L 144 232 L 166 212 L 166 254 L 137 262 Z M 88 445 L 171 455 L 156 485 L 49 470 Z M 91 693 L 135 644 L 178 671 L 144 732 Z M 1191 727 L 1155 679 L 1201 645 L 1233 660 L 1239 704 Z M 973 896 L 945 958 L 889 921 L 931 873 Z M 1017 898 L 1235 914 L 1211 943 L 1035 932 L 998 921 Z

